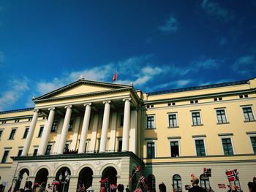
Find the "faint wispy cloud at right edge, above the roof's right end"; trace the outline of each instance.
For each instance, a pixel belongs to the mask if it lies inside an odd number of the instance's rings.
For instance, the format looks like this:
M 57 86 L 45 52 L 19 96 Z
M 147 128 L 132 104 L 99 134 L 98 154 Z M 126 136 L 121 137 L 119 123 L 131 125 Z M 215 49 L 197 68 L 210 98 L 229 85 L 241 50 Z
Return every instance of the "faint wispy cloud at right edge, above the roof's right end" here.
M 244 55 L 236 59 L 232 66 L 234 72 L 244 76 L 253 76 L 256 72 L 255 55 Z

